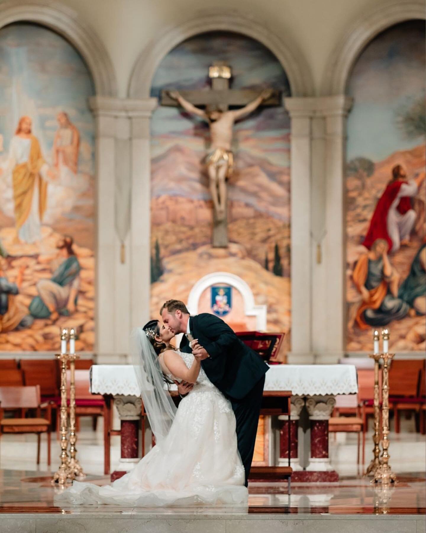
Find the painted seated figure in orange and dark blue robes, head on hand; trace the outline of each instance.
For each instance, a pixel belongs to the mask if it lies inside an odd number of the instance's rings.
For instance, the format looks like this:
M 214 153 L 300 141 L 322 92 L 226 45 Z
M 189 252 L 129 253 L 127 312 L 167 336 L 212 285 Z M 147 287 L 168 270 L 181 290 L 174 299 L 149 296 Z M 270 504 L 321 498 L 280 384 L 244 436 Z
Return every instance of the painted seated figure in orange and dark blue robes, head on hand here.
M 361 329 L 386 326 L 409 311 L 409 305 L 398 297 L 399 274 L 390 264 L 388 248 L 386 240 L 376 239 L 355 266 L 353 281 L 363 300 L 355 320 Z

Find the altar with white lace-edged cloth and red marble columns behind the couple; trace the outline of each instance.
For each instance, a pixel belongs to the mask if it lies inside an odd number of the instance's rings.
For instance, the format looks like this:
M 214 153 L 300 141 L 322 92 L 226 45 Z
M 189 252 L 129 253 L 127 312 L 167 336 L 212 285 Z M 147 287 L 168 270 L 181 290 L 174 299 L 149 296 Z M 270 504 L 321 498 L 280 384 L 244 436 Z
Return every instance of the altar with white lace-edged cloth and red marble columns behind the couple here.
M 171 390 L 176 386 L 171 387 Z M 288 414 L 269 416 L 268 466 L 290 463 L 299 481 L 338 481 L 329 457 L 328 421 L 337 394 L 358 392 L 354 365 L 269 365 L 264 391 L 291 391 Z M 102 394 L 107 405 L 113 398 L 120 417 L 121 458 L 112 474 L 116 479 L 140 460 L 139 424 L 143 404 L 132 365 L 94 365 L 91 392 Z M 142 433 L 144 439 L 144 432 Z M 144 448 L 144 446 L 143 446 Z M 108 468 L 107 468 L 108 465 Z M 109 449 L 105 448 L 105 473 L 109 473 Z

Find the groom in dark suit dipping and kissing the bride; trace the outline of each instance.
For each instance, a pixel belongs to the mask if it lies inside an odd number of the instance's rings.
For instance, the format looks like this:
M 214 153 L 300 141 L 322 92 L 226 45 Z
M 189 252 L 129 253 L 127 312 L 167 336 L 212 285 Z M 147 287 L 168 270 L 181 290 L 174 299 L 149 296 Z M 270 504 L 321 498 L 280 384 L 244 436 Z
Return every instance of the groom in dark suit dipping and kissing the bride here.
M 180 349 L 192 352 L 201 361 L 207 377 L 231 401 L 247 487 L 268 366 L 214 314 L 190 317 L 185 304 L 179 300 L 168 300 L 160 314 L 172 333 L 185 334 Z M 198 343 L 191 349 L 190 342 L 194 339 Z

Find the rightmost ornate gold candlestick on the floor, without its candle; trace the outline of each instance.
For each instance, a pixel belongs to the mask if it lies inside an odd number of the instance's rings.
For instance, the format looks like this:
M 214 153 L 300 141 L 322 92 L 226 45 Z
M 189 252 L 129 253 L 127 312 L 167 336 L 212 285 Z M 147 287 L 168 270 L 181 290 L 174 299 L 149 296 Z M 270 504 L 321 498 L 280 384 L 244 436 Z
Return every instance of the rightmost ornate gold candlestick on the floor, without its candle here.
M 394 357 L 394 353 L 382 353 L 383 359 L 383 373 L 382 373 L 382 448 L 380 466 L 374 472 L 374 478 L 371 483 L 381 482 L 386 485 L 389 483 L 396 483 L 396 474 L 392 472 L 389 464 L 389 364 Z

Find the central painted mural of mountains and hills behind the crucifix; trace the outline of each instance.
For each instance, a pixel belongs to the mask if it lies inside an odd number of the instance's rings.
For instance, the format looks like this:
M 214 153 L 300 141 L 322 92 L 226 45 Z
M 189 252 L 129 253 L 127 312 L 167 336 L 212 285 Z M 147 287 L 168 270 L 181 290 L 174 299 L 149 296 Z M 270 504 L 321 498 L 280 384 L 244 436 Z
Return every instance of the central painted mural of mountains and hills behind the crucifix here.
M 239 34 L 215 32 L 184 41 L 161 61 L 152 96 L 160 96 L 161 90 L 208 91 L 209 66 L 215 61 L 231 66 L 231 88 L 256 89 L 260 94 L 272 87 L 290 95 L 281 64 L 263 45 Z M 234 171 L 227 182 L 228 248 L 211 245 L 213 208 L 204 164 L 208 148 L 209 129 L 202 120 L 176 107 L 155 110 L 151 146 L 152 316 L 158 317 L 167 298 L 187 301 L 196 281 L 222 271 L 244 279 L 256 304 L 267 305 L 269 331 L 289 333 L 289 116 L 283 107 L 263 107 L 234 126 Z M 232 298 L 223 290 L 224 294 L 215 294 L 211 312 L 215 312 L 217 297 L 223 302 L 225 296 Z M 222 314 L 224 320 L 232 315 Z M 244 317 L 238 326 L 249 327 Z M 286 337 L 289 348 L 290 334 Z

